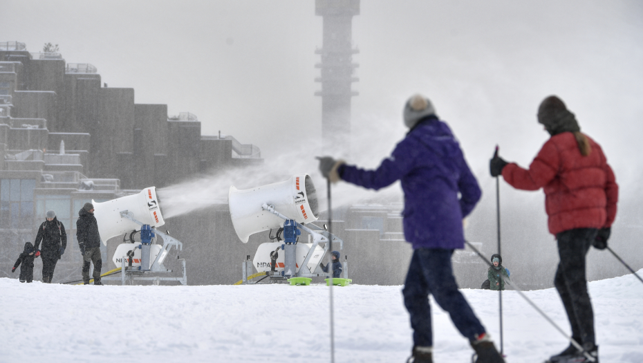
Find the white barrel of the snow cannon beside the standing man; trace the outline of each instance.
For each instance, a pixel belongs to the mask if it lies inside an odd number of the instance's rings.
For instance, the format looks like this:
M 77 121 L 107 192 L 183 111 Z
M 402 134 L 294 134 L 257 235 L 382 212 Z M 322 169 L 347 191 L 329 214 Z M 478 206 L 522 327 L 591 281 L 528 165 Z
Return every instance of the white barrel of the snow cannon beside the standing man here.
M 98 233 L 105 245 L 112 237 L 140 230 L 140 225 L 120 216 L 122 211 L 131 212 L 134 219 L 151 227 L 160 227 L 165 224 L 156 197 L 156 187 L 145 188 L 138 194 L 122 196 L 103 203 L 95 201 L 91 203 L 94 205 Z

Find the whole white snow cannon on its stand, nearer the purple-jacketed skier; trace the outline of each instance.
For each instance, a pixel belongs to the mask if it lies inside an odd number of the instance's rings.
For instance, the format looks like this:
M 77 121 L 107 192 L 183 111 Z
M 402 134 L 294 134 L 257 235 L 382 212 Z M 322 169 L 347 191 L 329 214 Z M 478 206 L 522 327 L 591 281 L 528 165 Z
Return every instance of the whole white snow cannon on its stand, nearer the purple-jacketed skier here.
M 239 190 L 232 186 L 228 204 L 232 225 L 243 243 L 248 242 L 251 234 L 277 230 L 274 236 L 270 233 L 270 242 L 259 245 L 252 259 L 252 266 L 270 277 L 270 283 L 285 282 L 292 277 L 326 276 L 319 264 L 328 252 L 330 241 L 340 249 L 343 246 L 342 239 L 330 234 L 326 226 L 313 223 L 319 218 L 319 203 L 308 174 L 252 189 Z M 308 236 L 301 236 L 301 232 Z M 252 275 L 250 255 L 242 266 L 241 282 L 247 283 Z

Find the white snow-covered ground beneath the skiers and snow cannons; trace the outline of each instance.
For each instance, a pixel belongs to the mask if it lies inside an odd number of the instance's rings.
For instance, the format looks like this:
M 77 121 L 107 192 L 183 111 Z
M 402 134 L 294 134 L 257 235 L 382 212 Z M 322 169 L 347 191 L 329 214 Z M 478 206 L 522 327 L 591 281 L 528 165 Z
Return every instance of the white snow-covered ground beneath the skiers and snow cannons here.
M 643 274 L 643 270 L 638 272 Z M 643 283 L 589 283 L 602 363 L 643 362 Z M 335 361 L 405 362 L 401 286 L 336 287 Z M 498 294 L 463 290 L 499 343 Z M 553 289 L 528 297 L 568 331 Z M 472 349 L 434 301 L 435 362 Z M 542 362 L 566 339 L 503 293 L 507 362 Z M 0 362 L 329 362 L 326 286 L 65 286 L 0 279 Z

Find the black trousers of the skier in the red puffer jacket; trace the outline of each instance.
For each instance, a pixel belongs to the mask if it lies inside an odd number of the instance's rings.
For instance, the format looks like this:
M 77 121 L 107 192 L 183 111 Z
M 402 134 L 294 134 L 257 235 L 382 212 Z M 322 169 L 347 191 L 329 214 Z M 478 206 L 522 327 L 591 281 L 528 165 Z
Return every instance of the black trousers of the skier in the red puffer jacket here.
M 595 344 L 594 311 L 587 292 L 586 254 L 598 230 L 577 228 L 556 235 L 560 263 L 554 285 L 572 326 L 572 338 L 579 344 Z

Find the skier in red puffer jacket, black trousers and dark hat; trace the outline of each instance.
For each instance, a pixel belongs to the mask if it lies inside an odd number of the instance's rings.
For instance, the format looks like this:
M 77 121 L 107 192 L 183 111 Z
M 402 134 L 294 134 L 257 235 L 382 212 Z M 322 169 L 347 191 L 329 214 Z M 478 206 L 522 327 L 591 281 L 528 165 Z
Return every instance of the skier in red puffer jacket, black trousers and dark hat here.
M 529 169 L 495 155 L 490 161 L 492 176 L 500 176 L 516 189 L 545 192 L 548 226 L 558 241 L 560 263 L 554 284 L 563 301 L 572 338 L 570 344 L 548 362 L 589 362 L 596 357 L 594 313 L 587 292 L 586 254 L 591 245 L 603 250 L 616 217 L 618 186 L 601 147 L 581 133 L 575 115 L 559 97 L 547 97 L 538 109 L 538 122 L 551 138 Z

